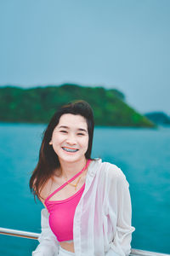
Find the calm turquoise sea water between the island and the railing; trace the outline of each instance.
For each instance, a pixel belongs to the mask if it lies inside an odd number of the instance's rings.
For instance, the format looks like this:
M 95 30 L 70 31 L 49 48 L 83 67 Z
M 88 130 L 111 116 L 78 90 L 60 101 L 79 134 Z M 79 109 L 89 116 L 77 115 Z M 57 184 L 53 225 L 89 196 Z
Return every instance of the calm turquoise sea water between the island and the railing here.
M 44 125 L 0 124 L 0 226 L 40 232 L 28 188 Z M 170 253 L 170 129 L 96 128 L 93 157 L 122 168 L 133 204 L 133 248 Z M 0 255 L 28 256 L 37 241 L 0 235 Z

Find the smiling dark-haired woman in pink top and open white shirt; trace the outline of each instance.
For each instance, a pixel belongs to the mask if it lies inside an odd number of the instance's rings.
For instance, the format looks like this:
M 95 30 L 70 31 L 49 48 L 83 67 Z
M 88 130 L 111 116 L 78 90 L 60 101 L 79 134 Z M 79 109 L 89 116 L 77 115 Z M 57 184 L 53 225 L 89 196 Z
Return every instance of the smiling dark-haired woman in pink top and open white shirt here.
M 115 165 L 91 159 L 93 111 L 59 108 L 42 139 L 30 187 L 42 201 L 40 244 L 32 255 L 128 255 L 134 228 L 128 183 Z

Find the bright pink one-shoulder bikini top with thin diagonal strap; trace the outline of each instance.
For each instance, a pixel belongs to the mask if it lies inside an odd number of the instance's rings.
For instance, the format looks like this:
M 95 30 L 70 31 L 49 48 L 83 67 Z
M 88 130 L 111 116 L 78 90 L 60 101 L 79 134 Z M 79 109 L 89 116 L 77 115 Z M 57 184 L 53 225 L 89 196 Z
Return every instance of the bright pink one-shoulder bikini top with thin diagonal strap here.
M 74 177 L 71 177 L 68 182 L 71 183 L 71 181 L 82 174 L 82 172 L 88 168 L 90 161 L 91 160 L 88 160 L 86 166 L 82 168 L 82 171 L 78 172 Z M 49 201 L 49 199 L 60 189 L 63 189 L 68 184 L 68 182 L 54 190 L 54 192 L 51 195 L 48 195 L 48 198 L 44 201 L 44 204 L 46 205 L 49 212 L 49 226 L 54 232 L 54 235 L 57 237 L 58 241 L 73 240 L 74 214 L 85 188 L 84 183 L 82 188 L 79 189 L 76 194 L 71 195 L 71 197 L 61 201 Z

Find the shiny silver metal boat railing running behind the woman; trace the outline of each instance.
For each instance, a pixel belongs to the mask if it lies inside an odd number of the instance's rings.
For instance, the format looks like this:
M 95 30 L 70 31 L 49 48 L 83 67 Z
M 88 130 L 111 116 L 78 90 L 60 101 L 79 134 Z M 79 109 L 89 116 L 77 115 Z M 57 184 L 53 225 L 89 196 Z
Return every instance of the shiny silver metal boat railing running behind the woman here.
M 27 239 L 38 239 L 38 236 L 40 236 L 39 233 L 33 233 L 28 231 L 22 231 L 22 230 L 11 230 L 11 229 L 4 229 L 0 228 L 0 234 L 6 235 L 6 236 L 18 236 L 22 238 Z M 139 249 L 131 249 L 130 255 L 132 256 L 170 256 L 170 254 L 167 253 L 155 253 L 150 251 L 143 251 Z

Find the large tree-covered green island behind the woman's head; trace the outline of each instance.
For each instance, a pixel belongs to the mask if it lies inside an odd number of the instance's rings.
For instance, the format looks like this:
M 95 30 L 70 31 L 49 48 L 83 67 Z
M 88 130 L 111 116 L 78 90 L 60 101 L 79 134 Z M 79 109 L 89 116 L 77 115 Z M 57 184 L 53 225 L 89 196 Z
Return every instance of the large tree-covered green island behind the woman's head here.
M 48 123 L 59 106 L 74 100 L 87 101 L 94 109 L 95 125 L 156 127 L 144 115 L 127 105 L 116 89 L 85 87 L 77 84 L 0 88 L 0 121 L 10 123 Z

